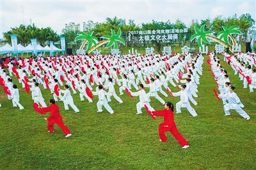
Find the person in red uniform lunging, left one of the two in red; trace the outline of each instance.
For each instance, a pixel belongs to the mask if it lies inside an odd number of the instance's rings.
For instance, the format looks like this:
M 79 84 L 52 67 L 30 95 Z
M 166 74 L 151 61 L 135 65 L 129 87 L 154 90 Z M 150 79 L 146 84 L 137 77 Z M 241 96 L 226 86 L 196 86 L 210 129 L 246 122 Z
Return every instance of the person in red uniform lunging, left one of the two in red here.
M 64 125 L 62 121 L 62 117 L 60 115 L 60 110 L 58 105 L 55 104 L 55 100 L 51 99 L 49 101 L 49 107 L 41 107 L 44 112 L 50 112 L 50 116 L 48 118 L 44 118 L 45 120 L 48 121 L 47 127 L 48 127 L 48 132 L 54 132 L 54 127 L 53 125 L 56 123 L 61 130 L 64 132 L 65 137 L 70 137 L 71 132 L 70 130 Z

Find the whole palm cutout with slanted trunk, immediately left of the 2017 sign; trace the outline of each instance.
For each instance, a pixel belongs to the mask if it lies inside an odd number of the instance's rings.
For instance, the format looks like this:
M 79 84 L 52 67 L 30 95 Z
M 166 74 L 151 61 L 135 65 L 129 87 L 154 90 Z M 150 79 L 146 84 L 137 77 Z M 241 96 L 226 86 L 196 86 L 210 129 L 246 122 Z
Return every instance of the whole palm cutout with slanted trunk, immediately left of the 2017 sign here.
M 109 48 L 109 47 L 113 46 L 113 49 L 118 49 L 118 42 L 125 45 L 124 39 L 120 37 L 121 34 L 122 34 L 122 31 L 121 31 L 120 28 L 118 29 L 117 33 L 115 33 L 115 31 L 113 29 L 111 29 L 111 35 L 102 36 L 101 38 L 105 38 L 106 40 L 103 40 L 103 41 L 97 43 L 96 46 L 94 46 L 90 50 L 88 50 L 88 54 L 90 54 L 90 52 L 97 49 L 98 47 L 100 47 L 104 43 L 108 43 L 105 48 Z

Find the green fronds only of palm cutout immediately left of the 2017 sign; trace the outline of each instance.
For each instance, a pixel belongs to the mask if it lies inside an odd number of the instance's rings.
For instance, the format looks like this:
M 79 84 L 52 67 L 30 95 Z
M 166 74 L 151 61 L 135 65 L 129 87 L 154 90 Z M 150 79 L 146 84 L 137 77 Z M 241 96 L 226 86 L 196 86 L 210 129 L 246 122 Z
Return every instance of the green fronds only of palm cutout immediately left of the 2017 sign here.
M 115 33 L 114 29 L 111 29 L 111 35 L 104 35 L 101 38 L 105 38 L 109 40 L 109 43 L 106 45 L 106 48 L 109 48 L 114 45 L 113 49 L 118 49 L 118 42 L 121 42 L 125 45 L 125 41 L 123 38 L 120 38 L 121 36 L 121 29 L 119 28 L 117 33 Z

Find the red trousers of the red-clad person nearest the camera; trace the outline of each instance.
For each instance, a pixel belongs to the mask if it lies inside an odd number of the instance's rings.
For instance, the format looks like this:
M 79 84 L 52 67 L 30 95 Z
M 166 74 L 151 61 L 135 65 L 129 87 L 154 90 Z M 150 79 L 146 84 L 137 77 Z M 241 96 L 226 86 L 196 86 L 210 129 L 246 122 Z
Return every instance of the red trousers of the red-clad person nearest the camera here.
M 167 141 L 165 132 L 171 132 L 173 137 L 175 137 L 175 139 L 180 143 L 181 146 L 189 145 L 186 139 L 179 133 L 176 125 L 173 125 L 172 127 L 164 127 L 164 124 L 160 123 L 158 131 L 159 131 L 160 139 L 163 142 Z

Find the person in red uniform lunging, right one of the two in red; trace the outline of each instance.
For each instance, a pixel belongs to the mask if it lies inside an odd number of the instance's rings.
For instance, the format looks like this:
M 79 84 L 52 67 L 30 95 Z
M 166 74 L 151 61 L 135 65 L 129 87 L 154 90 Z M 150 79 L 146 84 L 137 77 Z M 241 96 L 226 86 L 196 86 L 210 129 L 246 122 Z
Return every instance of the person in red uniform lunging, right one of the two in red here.
M 160 141 L 166 142 L 167 138 L 164 134 L 165 132 L 171 132 L 173 137 L 177 139 L 177 141 L 180 143 L 183 149 L 186 149 L 189 147 L 188 142 L 186 139 L 179 133 L 176 124 L 174 122 L 174 116 L 173 116 L 173 104 L 171 102 L 166 102 L 164 104 L 164 109 L 161 111 L 152 111 L 152 114 L 154 116 L 163 116 L 164 122 L 159 124 L 159 136 Z

